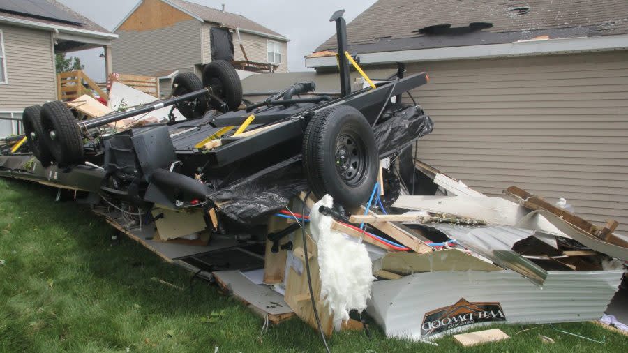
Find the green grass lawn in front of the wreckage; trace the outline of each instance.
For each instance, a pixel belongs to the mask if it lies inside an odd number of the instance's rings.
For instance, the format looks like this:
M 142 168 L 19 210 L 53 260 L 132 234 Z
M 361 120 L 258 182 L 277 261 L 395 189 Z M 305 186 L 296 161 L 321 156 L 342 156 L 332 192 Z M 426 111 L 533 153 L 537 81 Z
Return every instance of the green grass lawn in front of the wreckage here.
M 121 237 L 86 206 L 55 203 L 55 190 L 0 179 L 0 352 L 322 352 L 317 333 L 299 319 L 271 326 L 215 285 L 163 262 Z M 173 283 L 184 290 L 151 278 Z M 214 313 L 214 315 L 212 315 Z M 208 319 L 209 317 L 209 319 Z M 590 323 L 498 326 L 512 336 L 476 352 L 625 352 L 628 338 Z M 533 328 L 533 329 L 530 329 Z M 523 329 L 530 329 L 518 333 Z M 336 333 L 332 352 L 456 352 L 393 340 L 375 324 Z M 518 334 L 516 334 L 518 333 Z M 541 343 L 539 333 L 553 338 Z M 515 336 L 516 334 L 516 336 Z

